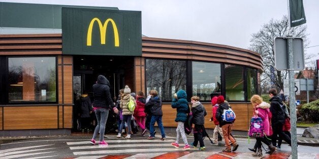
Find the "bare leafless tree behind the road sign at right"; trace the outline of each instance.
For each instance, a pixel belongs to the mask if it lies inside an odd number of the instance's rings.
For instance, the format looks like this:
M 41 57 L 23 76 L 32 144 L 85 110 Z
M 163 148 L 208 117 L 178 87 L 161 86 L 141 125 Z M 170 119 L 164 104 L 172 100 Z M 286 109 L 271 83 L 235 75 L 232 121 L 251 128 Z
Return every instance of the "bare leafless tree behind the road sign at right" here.
M 283 16 L 281 20 L 271 19 L 267 24 L 262 26 L 259 32 L 252 34 L 249 49 L 260 53 L 264 63 L 264 72 L 261 74 L 261 84 L 267 86 L 262 86 L 262 89 L 268 90 L 271 87 L 270 83 L 277 89 L 283 89 L 283 79 L 288 77 L 288 71 L 280 71 L 274 68 L 274 73 L 272 73 L 271 67 L 275 66 L 274 39 L 275 37 L 286 37 L 287 35 L 303 38 L 304 48 L 309 44 L 307 26 L 299 25 L 290 28 L 287 16 Z M 309 56 L 306 55 L 305 60 L 308 58 Z M 273 81 L 271 81 L 271 79 L 273 79 Z M 262 92 L 265 91 L 266 90 L 262 90 Z

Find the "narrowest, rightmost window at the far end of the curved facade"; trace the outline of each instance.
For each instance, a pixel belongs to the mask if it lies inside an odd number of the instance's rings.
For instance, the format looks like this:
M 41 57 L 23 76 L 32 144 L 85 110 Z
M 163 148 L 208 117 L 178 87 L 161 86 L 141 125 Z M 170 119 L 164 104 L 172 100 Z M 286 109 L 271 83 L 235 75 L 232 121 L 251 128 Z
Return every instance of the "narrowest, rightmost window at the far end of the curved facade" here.
M 257 69 L 247 68 L 247 99 L 257 94 Z

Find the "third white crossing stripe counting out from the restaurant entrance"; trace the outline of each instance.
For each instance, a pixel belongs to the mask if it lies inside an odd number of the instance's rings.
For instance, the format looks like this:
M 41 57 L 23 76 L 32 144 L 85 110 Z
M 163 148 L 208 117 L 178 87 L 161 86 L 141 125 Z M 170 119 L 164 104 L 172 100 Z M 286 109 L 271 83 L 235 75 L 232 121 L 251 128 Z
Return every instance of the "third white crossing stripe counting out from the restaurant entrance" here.
M 182 149 L 180 149 L 182 151 Z M 178 151 L 176 148 L 156 148 L 156 149 L 121 149 L 121 150 L 101 150 L 101 151 L 78 151 L 73 152 L 74 155 L 85 154 L 109 154 L 109 153 L 132 153 L 132 152 L 163 152 L 163 151 Z

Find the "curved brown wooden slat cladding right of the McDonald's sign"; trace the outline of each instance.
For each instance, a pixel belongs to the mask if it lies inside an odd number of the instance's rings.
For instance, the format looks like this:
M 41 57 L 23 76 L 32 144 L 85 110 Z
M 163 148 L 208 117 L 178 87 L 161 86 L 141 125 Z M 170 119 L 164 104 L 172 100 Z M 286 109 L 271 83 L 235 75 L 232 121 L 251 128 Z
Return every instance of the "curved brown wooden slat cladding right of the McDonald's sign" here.
M 142 37 L 142 57 L 245 65 L 263 70 L 260 54 L 241 48 L 176 39 Z

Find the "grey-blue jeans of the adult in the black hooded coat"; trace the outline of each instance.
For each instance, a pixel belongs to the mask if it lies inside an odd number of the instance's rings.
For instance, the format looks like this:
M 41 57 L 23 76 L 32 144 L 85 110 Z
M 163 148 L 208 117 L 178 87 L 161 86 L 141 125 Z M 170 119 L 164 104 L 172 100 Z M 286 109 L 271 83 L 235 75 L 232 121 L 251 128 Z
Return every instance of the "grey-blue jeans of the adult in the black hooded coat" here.
M 98 124 L 97 127 L 95 127 L 94 129 L 92 139 L 95 140 L 95 137 L 97 137 L 98 133 L 100 132 L 100 141 L 102 142 L 104 140 L 105 124 L 109 116 L 109 109 L 99 108 L 95 109 L 94 112 L 97 116 Z

